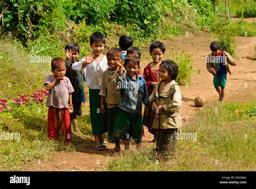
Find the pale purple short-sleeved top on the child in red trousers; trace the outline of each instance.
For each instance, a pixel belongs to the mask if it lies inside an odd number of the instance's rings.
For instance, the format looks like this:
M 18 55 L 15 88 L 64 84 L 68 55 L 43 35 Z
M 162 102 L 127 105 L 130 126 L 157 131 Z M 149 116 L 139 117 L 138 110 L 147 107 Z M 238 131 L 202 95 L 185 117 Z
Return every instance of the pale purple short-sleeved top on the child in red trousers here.
M 54 75 L 49 75 L 44 81 L 44 85 L 50 84 L 55 80 Z M 60 80 L 56 83 L 52 89 L 50 89 L 46 106 L 56 107 L 57 109 L 69 108 L 69 95 L 74 91 L 73 86 L 68 77 L 64 77 L 63 80 Z

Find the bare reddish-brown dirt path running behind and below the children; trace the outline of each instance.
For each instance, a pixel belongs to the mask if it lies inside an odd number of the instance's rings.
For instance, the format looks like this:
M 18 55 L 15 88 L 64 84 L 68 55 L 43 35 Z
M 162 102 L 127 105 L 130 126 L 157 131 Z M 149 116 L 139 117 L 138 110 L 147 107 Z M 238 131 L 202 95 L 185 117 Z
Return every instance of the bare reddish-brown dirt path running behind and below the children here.
M 256 91 L 256 61 L 252 59 L 256 37 L 235 37 L 237 41 L 237 66 L 231 66 L 232 76 L 227 76 L 227 87 L 225 100 L 251 99 Z M 185 87 L 180 86 L 183 96 L 181 117 L 183 123 L 190 122 L 194 114 L 202 108 L 194 106 L 194 98 L 202 95 L 206 103 L 218 101 L 218 94 L 212 83 L 212 75 L 207 72 L 205 57 L 210 53 L 210 43 L 213 36 L 207 32 L 190 34 L 172 40 L 164 40 L 166 45 L 165 55 L 172 53 L 171 49 L 185 51 L 194 60 L 194 68 L 200 69 L 193 73 L 193 84 Z M 143 62 L 146 64 L 147 62 Z M 153 137 L 146 132 L 143 143 L 149 143 Z M 113 145 L 110 145 L 112 148 Z M 50 160 L 38 160 L 32 163 L 25 163 L 24 171 L 101 171 L 107 159 L 110 158 L 107 152 L 98 152 L 91 147 L 78 149 L 76 152 L 52 152 Z

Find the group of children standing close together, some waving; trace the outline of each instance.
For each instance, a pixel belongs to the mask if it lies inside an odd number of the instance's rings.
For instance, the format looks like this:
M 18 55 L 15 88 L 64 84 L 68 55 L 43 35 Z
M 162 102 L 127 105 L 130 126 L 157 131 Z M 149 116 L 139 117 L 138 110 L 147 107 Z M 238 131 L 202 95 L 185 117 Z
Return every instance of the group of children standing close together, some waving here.
M 139 69 L 141 52 L 132 46 L 131 37 L 121 36 L 119 49 L 109 49 L 106 56 L 102 54 L 104 45 L 104 35 L 95 32 L 90 36 L 91 53 L 86 57 L 78 60 L 79 45 L 71 42 L 65 46 L 65 60 L 52 60 L 53 75 L 49 75 L 44 83 L 49 90 L 46 103 L 49 106 L 48 137 L 58 139 L 59 129 L 62 129 L 63 139 L 71 141 L 71 123 L 75 131 L 80 132 L 77 116 L 82 114 L 82 103 L 85 102 L 85 81 L 89 87 L 96 150 L 106 150 L 103 137 L 106 132 L 109 142 L 115 143 L 114 149 L 109 150 L 111 152 L 120 151 L 120 139 L 125 150 L 130 149 L 131 140 L 139 148 L 145 125 L 154 134 L 153 141 L 157 142 L 153 154 L 162 157 L 174 154 L 177 129 L 182 125 L 179 114 L 181 92 L 175 82 L 177 64 L 172 60 L 162 60 L 165 46 L 154 42 L 150 45 L 152 62 L 142 75 Z M 219 56 L 219 52 L 212 55 Z M 212 73 L 215 70 L 219 75 L 218 68 L 213 65 L 210 68 L 210 65 L 207 64 L 208 70 Z M 221 94 L 222 100 L 224 95 Z M 144 114 L 142 103 L 145 105 Z

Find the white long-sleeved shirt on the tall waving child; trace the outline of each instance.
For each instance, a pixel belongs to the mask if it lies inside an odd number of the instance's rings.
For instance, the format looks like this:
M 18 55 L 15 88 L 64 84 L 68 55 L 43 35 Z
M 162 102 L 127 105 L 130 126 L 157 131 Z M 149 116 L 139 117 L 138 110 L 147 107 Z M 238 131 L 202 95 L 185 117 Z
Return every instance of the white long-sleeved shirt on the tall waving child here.
M 73 63 L 72 69 L 75 71 L 83 71 L 89 89 L 99 89 L 103 72 L 109 68 L 107 58 L 104 55 L 102 61 L 96 62 L 94 60 L 92 63 L 83 66 L 85 60 L 86 57 L 83 57 L 78 62 Z

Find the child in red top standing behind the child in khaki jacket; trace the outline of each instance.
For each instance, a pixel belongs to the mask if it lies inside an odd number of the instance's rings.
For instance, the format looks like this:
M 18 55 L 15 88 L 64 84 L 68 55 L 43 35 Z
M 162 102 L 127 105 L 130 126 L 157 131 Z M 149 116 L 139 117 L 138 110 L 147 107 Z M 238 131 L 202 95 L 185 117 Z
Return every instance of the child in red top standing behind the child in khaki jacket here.
M 154 86 L 156 86 L 157 82 L 160 81 L 159 77 L 159 65 L 162 62 L 162 58 L 165 52 L 165 46 L 161 42 L 154 42 L 150 45 L 150 55 L 152 57 L 153 62 L 149 63 L 144 69 L 144 79 L 147 84 L 147 92 L 149 96 L 153 92 Z M 145 109 L 148 107 L 145 106 Z M 151 134 L 154 134 L 153 142 L 157 140 L 157 130 L 152 128 L 155 112 L 149 109 L 149 113 L 147 115 L 143 115 L 143 125 L 147 127 Z

